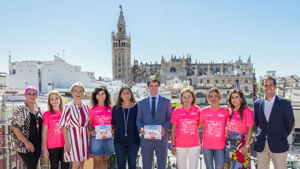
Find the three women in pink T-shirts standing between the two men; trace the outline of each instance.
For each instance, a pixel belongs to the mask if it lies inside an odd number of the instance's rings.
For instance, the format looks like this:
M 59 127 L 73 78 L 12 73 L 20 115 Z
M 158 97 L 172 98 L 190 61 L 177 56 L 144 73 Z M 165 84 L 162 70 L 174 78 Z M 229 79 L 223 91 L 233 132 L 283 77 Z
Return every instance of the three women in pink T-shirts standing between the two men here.
M 171 118 L 171 151 L 179 169 L 187 169 L 187 164 L 189 169 L 197 169 L 201 151 L 198 129 L 202 125 L 206 169 L 251 168 L 249 145 L 254 120 L 240 89 L 230 91 L 228 108 L 219 105 L 222 93 L 216 87 L 208 91 L 208 107 L 195 106 L 193 89 L 182 90 L 180 99 L 182 106 L 174 109 Z

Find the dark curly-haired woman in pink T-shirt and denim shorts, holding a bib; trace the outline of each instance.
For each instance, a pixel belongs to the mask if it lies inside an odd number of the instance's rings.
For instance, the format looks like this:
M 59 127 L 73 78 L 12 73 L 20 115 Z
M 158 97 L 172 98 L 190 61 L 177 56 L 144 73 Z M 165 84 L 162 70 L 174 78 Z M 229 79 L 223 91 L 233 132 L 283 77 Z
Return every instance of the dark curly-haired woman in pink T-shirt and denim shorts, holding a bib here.
M 99 86 L 94 89 L 91 95 L 91 105 L 88 124 L 90 154 L 93 155 L 94 169 L 107 169 L 107 160 L 111 154 L 115 153 L 113 138 L 96 139 L 95 137 L 97 133 L 95 126 L 111 125 L 112 105 L 110 94 L 105 86 Z

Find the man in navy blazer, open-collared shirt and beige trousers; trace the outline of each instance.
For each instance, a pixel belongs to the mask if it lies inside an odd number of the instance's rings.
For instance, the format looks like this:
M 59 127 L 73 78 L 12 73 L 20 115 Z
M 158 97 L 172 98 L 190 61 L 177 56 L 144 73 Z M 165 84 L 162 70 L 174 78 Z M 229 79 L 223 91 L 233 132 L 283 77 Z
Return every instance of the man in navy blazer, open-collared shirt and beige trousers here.
M 257 126 L 254 149 L 258 169 L 286 169 L 289 149 L 287 137 L 295 123 L 291 102 L 275 94 L 276 80 L 267 76 L 263 79 L 264 98 L 254 102 L 254 120 Z

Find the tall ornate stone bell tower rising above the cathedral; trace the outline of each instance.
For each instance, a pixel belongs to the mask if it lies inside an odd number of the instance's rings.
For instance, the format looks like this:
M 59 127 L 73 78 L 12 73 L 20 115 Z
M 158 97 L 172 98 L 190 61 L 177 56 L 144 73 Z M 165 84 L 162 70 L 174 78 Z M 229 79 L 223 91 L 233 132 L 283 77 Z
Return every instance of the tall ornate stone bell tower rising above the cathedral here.
M 111 32 L 113 79 L 131 83 L 131 37 L 126 33 L 126 24 L 120 5 L 118 31 Z

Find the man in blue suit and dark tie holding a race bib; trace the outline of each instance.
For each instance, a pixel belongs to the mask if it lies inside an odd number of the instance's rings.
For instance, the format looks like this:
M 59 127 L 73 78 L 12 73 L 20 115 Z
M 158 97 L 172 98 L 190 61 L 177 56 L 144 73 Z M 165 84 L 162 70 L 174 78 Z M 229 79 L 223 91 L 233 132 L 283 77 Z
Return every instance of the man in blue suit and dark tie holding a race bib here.
M 143 169 L 152 168 L 153 153 L 155 150 L 158 169 L 166 169 L 168 133 L 171 127 L 172 105 L 170 99 L 158 93 L 160 81 L 151 76 L 147 81 L 150 94 L 138 102 L 136 125 L 141 138 L 141 154 Z M 144 138 L 144 125 L 162 125 L 162 139 Z

